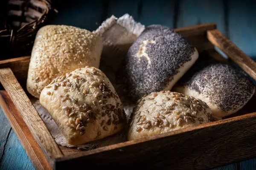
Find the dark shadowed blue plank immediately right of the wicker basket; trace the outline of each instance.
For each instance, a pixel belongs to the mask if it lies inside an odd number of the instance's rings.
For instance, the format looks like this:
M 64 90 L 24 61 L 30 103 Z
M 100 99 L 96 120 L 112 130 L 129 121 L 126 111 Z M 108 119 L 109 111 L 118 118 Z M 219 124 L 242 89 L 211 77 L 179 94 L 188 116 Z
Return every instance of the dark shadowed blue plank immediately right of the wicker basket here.
M 61 3 L 61 2 L 60 2 Z M 57 8 L 58 14 L 51 24 L 76 26 L 93 31 L 99 27 L 103 15 L 102 0 L 79 0 Z

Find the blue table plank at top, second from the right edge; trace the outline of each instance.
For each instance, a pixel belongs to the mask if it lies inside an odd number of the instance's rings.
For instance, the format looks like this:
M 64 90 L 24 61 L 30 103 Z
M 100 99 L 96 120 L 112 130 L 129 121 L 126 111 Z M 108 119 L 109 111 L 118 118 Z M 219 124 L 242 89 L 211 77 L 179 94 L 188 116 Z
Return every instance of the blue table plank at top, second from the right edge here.
M 181 0 L 179 2 L 177 27 L 216 23 L 218 29 L 226 34 L 223 0 Z

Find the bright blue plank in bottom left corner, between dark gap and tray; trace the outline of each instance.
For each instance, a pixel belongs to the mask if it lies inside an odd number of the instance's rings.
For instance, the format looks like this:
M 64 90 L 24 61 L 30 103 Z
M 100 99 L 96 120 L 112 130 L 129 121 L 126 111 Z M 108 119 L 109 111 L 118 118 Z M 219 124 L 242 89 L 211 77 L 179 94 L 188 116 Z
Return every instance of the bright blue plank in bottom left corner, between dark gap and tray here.
M 0 163 L 0 170 L 34 170 L 34 167 L 21 146 L 17 136 L 11 131 L 6 143 L 5 154 Z

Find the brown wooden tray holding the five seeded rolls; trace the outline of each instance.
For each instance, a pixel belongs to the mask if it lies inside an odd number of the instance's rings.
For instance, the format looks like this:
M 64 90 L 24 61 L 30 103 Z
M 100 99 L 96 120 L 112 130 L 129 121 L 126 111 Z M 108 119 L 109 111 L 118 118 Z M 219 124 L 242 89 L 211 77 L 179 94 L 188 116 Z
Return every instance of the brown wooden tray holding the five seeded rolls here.
M 227 40 L 215 24 L 175 31 L 200 52 L 235 62 L 256 80 L 256 63 Z M 223 58 L 214 46 L 229 59 Z M 0 105 L 36 169 L 208 169 L 256 156 L 256 96 L 232 117 L 90 151 L 58 146 L 23 89 L 30 57 L 0 61 Z M 231 60 L 230 60 L 231 59 Z M 22 88 L 23 87 L 23 88 Z M 19 158 L 17 158 L 19 159 Z

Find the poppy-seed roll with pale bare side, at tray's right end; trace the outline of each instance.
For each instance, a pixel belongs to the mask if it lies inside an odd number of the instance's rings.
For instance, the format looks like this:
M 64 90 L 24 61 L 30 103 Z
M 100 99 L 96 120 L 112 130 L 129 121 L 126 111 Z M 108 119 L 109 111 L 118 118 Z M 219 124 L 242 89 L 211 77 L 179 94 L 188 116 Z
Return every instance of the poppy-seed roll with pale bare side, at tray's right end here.
M 185 75 L 172 90 L 203 100 L 221 118 L 239 111 L 255 93 L 255 85 L 232 66 L 214 63 Z

